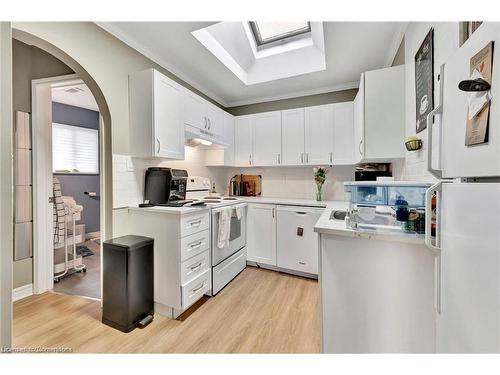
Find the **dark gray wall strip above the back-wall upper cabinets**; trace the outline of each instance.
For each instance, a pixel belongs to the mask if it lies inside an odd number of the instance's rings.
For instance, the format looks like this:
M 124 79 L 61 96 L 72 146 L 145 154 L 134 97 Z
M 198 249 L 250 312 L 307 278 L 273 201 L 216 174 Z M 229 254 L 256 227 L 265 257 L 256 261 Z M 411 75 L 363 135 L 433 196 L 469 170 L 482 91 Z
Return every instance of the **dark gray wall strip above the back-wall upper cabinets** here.
M 234 116 L 248 115 L 251 113 L 283 111 L 285 109 L 311 107 L 314 105 L 349 102 L 354 100 L 358 89 L 327 92 L 324 94 L 300 96 L 298 98 L 274 100 L 271 102 L 241 105 L 226 108 Z

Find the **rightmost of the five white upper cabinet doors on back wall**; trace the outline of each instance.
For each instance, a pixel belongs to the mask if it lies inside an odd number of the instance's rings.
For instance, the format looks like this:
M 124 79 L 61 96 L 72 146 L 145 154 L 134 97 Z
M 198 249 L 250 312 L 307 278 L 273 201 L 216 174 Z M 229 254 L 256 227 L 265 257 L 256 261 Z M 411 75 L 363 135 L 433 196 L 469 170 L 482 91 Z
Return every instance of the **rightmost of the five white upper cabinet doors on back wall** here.
M 354 104 L 333 105 L 333 164 L 355 164 L 354 160 Z

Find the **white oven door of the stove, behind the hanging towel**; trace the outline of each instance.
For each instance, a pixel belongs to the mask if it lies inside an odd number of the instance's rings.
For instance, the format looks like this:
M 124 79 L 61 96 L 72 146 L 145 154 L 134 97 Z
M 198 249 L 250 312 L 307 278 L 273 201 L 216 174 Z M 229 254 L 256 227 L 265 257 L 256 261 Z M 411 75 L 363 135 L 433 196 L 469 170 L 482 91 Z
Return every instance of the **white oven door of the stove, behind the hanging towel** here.
M 236 205 L 231 206 L 236 207 Z M 227 259 L 235 252 L 246 246 L 247 243 L 247 204 L 241 203 L 243 214 L 238 220 L 236 212 L 231 216 L 231 231 L 229 235 L 229 245 L 223 248 L 217 246 L 219 236 L 219 213 L 223 208 L 212 210 L 212 266 L 216 266 L 224 259 Z

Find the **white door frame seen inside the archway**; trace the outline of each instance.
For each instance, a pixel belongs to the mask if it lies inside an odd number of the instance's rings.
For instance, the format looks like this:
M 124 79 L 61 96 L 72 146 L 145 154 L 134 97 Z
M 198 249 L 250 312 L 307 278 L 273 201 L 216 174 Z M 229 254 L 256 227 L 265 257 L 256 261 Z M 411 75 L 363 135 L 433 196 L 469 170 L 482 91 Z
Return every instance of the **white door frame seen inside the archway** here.
M 84 83 L 76 74 L 32 80 L 32 153 L 33 153 L 33 293 L 41 294 L 54 288 L 54 246 L 52 203 L 52 125 L 53 87 L 64 87 Z M 48 101 L 50 98 L 50 104 Z M 100 170 L 100 215 L 103 236 L 103 171 L 104 147 L 102 142 L 102 120 L 99 121 L 99 170 Z M 50 128 L 49 128 L 50 129 Z M 104 237 L 102 237 L 104 238 Z M 101 241 L 102 247 L 102 241 Z M 101 251 L 102 264 L 102 251 Z M 102 270 L 101 270 L 102 271 Z M 101 272 L 102 278 L 102 272 Z

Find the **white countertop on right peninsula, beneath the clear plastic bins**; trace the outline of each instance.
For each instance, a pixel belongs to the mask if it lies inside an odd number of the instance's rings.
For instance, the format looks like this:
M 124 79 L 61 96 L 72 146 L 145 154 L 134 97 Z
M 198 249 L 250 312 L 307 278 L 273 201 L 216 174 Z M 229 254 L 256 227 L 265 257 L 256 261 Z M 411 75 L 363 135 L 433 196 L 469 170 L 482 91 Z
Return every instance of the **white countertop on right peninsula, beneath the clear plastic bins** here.
M 330 201 L 328 206 L 323 211 L 316 225 L 314 231 L 327 235 L 340 235 L 347 237 L 369 238 L 391 242 L 405 242 L 413 244 L 423 244 L 423 235 L 415 235 L 410 233 L 384 233 L 367 230 L 353 230 L 347 228 L 345 220 L 330 220 L 330 214 L 335 210 L 347 210 L 349 207 L 348 202 Z

